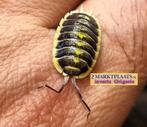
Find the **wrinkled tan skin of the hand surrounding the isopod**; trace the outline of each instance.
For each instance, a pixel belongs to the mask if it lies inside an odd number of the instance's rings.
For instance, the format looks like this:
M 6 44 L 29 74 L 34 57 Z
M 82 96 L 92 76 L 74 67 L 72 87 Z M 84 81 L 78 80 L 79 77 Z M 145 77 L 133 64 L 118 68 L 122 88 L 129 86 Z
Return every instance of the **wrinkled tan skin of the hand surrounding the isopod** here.
M 93 72 L 137 72 L 139 86 L 89 86 L 78 80 L 87 110 L 71 82 L 60 94 L 37 89 L 63 82 L 52 64 L 52 42 L 61 17 L 93 8 L 102 47 Z M 147 83 L 145 0 L 0 0 L 0 127 L 119 127 Z M 57 80 L 58 79 L 58 80 Z

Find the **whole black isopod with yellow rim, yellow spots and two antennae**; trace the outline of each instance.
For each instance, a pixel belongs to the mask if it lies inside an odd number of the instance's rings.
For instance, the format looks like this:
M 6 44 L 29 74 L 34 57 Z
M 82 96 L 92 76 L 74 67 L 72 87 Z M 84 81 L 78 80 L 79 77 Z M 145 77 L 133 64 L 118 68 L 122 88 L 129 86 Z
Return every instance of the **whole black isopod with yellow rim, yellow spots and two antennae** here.
M 100 25 L 93 16 L 85 12 L 67 13 L 57 27 L 53 44 L 53 64 L 64 76 L 64 83 L 59 90 L 46 85 L 59 93 L 71 78 L 89 113 L 91 110 L 82 98 L 76 79 L 85 78 L 90 74 L 97 61 L 100 43 Z

